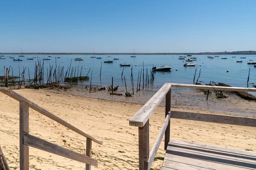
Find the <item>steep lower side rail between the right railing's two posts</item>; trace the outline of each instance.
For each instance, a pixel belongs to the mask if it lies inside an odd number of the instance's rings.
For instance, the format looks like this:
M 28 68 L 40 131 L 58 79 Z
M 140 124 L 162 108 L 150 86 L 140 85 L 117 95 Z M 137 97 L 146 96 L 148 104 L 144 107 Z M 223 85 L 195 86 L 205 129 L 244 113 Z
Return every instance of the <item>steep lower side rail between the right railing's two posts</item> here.
M 154 142 L 153 147 L 151 148 L 151 151 L 149 153 L 149 158 L 148 158 L 148 161 L 147 161 L 148 162 L 148 169 L 147 170 L 150 170 L 150 167 L 151 167 L 151 165 L 152 165 L 152 163 L 154 161 L 154 158 L 155 158 L 155 156 L 157 154 L 157 150 L 158 150 L 158 148 L 160 146 L 160 143 L 162 142 L 163 134 L 165 133 L 166 128 L 169 125 L 169 120 L 170 120 L 170 113 L 167 114 L 166 119 L 163 122 L 163 126 L 160 129 L 160 133 L 158 134 L 157 139 Z

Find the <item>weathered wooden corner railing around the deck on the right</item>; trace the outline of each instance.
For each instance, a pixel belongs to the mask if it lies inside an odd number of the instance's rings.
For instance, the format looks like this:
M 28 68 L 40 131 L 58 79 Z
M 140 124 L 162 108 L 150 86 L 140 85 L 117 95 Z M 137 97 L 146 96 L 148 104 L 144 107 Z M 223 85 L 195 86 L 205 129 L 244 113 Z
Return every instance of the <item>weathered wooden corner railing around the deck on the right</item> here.
M 170 141 L 170 118 L 256 127 L 255 118 L 224 116 L 207 113 L 193 113 L 184 111 L 171 111 L 172 88 L 195 88 L 205 90 L 256 92 L 256 88 L 236 88 L 166 83 L 129 121 L 129 125 L 139 127 L 139 170 L 150 170 L 150 167 L 154 161 L 154 157 L 156 156 L 157 150 L 163 139 L 163 134 L 165 134 L 164 149 L 166 150 L 168 142 Z M 149 118 L 164 97 L 166 97 L 166 118 L 162 128 L 160 129 L 160 133 L 158 134 L 157 139 L 155 140 L 154 145 L 149 153 Z

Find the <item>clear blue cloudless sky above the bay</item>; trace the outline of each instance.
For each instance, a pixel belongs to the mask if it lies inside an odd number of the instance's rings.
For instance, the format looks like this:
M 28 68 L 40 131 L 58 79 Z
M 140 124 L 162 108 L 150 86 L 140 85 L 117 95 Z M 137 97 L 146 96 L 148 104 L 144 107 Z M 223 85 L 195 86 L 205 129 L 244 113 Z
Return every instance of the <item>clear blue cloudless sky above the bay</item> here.
M 256 51 L 256 0 L 1 0 L 0 52 Z

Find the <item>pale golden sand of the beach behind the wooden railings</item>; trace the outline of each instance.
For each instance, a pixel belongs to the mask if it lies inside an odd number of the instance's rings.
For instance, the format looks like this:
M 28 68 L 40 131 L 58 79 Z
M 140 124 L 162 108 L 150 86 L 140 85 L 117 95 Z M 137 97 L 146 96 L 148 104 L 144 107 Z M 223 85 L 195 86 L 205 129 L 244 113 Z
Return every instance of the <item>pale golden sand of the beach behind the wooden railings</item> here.
M 138 128 L 129 126 L 129 119 L 142 105 L 53 94 L 45 90 L 15 91 L 103 142 L 103 145 L 96 143 L 92 145 L 92 157 L 99 160 L 99 167 L 92 167 L 92 169 L 138 169 Z M 0 103 L 0 144 L 11 169 L 19 169 L 19 105 L 16 100 L 1 93 Z M 241 104 L 241 109 L 245 109 L 245 104 Z M 164 110 L 163 107 L 158 107 L 151 116 L 150 147 L 163 124 Z M 175 110 L 178 110 L 177 107 Z M 181 108 L 181 110 L 188 111 L 187 108 Z M 29 111 L 29 133 L 85 154 L 86 138 L 41 113 L 32 109 Z M 199 110 L 193 109 L 193 111 Z M 254 127 L 172 119 L 171 138 L 256 151 L 256 128 Z M 157 156 L 164 157 L 164 153 L 162 142 Z M 29 148 L 29 154 L 31 170 L 81 170 L 85 167 L 85 164 L 78 161 L 32 147 Z M 160 169 L 161 165 L 162 161 L 157 160 L 154 161 L 152 168 Z

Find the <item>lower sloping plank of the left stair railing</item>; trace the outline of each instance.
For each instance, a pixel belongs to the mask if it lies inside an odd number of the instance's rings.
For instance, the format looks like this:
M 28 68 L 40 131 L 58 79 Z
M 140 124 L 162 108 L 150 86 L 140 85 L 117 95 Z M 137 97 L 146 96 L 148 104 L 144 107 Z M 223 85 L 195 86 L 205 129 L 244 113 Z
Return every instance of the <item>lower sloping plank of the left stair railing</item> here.
M 32 136 L 26 132 L 24 132 L 23 135 L 24 135 L 24 138 L 23 138 L 24 144 L 26 144 L 27 146 L 35 147 L 37 149 L 44 150 L 49 153 L 54 153 L 59 156 L 63 156 L 69 159 L 73 159 L 75 161 L 83 162 L 85 164 L 90 164 L 95 167 L 98 167 L 98 161 L 96 159 L 90 158 L 80 153 L 76 153 L 72 150 L 58 146 L 57 144 L 47 142 L 43 139 Z

